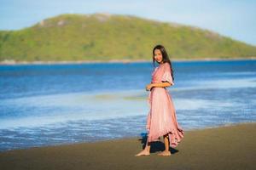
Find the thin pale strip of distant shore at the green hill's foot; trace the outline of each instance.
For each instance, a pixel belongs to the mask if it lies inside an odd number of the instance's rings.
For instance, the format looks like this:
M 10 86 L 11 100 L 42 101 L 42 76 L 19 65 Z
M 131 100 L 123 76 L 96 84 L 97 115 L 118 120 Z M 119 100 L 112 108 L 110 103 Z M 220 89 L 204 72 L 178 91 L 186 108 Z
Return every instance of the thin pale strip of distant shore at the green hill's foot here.
M 172 61 L 215 61 L 215 60 L 253 60 L 255 57 L 248 58 L 198 58 L 198 59 L 172 59 Z M 144 63 L 151 62 L 147 59 L 110 59 L 110 60 L 77 60 L 77 61 L 15 61 L 5 59 L 0 61 L 0 65 L 63 65 L 63 64 L 86 64 L 86 63 Z

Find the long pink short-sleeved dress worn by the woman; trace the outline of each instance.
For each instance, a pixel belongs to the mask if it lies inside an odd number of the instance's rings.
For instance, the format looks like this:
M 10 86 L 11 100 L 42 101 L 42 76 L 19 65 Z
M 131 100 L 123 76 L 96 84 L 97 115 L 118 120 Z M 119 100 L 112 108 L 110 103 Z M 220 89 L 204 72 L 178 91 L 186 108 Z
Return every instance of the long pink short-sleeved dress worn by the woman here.
M 169 63 L 160 64 L 152 73 L 151 83 L 162 81 L 174 85 Z M 148 104 L 150 105 L 146 126 L 148 142 L 157 141 L 160 136 L 168 133 L 170 146 L 176 147 L 183 138 L 183 129 L 177 123 L 175 107 L 168 90 L 166 88 L 151 88 Z

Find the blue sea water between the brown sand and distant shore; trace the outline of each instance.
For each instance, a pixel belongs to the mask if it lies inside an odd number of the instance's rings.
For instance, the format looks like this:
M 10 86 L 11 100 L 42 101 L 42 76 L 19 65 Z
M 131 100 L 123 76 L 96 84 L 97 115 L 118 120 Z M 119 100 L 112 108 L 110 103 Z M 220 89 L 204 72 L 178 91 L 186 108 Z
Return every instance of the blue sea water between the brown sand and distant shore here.
M 256 122 L 256 60 L 174 61 L 183 130 Z M 147 133 L 152 63 L 0 65 L 0 151 Z

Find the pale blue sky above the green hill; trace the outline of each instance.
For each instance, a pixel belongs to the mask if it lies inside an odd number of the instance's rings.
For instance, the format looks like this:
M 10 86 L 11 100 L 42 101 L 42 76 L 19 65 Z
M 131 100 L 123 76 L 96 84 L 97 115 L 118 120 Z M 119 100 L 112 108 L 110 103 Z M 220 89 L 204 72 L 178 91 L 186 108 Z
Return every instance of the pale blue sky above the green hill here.
M 218 32 L 256 46 L 256 0 L 0 0 L 0 30 L 59 14 L 129 14 Z

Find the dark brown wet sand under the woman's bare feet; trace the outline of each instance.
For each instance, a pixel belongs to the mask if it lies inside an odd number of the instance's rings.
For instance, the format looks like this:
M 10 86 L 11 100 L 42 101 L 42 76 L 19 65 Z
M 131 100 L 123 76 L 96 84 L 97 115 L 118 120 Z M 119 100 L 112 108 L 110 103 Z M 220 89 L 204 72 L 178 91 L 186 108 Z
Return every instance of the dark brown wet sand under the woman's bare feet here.
M 256 169 L 256 123 L 185 131 L 172 156 L 135 157 L 140 138 L 0 152 L 0 169 Z

